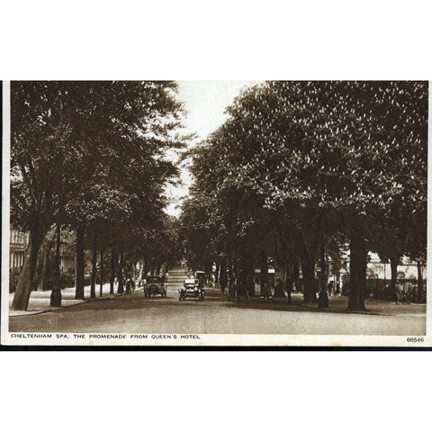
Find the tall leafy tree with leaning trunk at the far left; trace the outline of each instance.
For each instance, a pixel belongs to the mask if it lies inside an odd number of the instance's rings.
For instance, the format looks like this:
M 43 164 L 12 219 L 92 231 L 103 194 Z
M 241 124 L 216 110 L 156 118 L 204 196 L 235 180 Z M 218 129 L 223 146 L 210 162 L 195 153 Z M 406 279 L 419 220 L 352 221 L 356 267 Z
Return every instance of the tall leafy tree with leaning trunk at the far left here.
M 182 113 L 175 90 L 170 81 L 13 83 L 11 216 L 31 238 L 14 309 L 27 308 L 40 244 L 58 209 L 76 229 L 87 224 L 93 213 L 85 210 L 94 205 L 83 197 L 98 185 L 126 197 L 136 220 L 161 205 L 164 184 L 177 174 L 166 150 L 184 145 L 175 133 Z

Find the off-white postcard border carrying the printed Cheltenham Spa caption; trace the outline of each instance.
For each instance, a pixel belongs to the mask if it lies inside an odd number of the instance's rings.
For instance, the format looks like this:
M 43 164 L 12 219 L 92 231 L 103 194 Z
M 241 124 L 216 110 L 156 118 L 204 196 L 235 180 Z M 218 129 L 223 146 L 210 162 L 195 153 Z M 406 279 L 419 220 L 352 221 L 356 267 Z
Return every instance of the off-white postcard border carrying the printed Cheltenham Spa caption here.
M 3 82 L 3 178 L 2 178 L 2 279 L 1 279 L 1 343 L 7 346 L 58 346 L 58 347 L 432 347 L 432 302 L 427 302 L 426 336 L 367 336 L 367 335 L 233 335 L 197 334 L 193 338 L 182 338 L 183 334 L 166 334 L 170 338 L 157 338 L 160 334 L 143 333 L 147 338 L 136 338 L 137 334 L 123 333 L 42 333 L 9 332 L 9 239 L 10 239 L 10 81 Z M 432 138 L 431 82 L 428 100 L 428 166 L 432 166 L 430 142 Z M 432 214 L 429 200 L 432 182 L 428 170 L 428 215 Z M 428 224 L 428 250 L 432 247 L 432 229 Z M 427 280 L 432 277 L 432 263 L 428 254 Z M 427 299 L 432 290 L 427 285 Z M 48 312 L 56 313 L 56 312 Z M 22 335 L 22 336 L 17 336 Z M 27 335 L 27 336 L 26 336 Z M 32 336 L 28 336 L 32 335 Z M 75 337 L 74 335 L 81 335 Z M 99 335 L 90 338 L 91 335 Z M 108 338 L 117 335 L 119 338 Z M 124 337 L 124 338 L 123 338 Z M 422 341 L 409 342 L 409 338 Z

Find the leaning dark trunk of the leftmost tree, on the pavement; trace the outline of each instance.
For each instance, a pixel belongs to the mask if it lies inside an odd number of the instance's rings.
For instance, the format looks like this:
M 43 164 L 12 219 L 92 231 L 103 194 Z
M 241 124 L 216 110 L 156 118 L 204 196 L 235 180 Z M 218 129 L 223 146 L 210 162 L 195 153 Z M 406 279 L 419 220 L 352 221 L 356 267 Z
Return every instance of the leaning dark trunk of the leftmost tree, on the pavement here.
M 23 270 L 12 302 L 13 311 L 27 311 L 31 290 L 34 288 L 34 273 L 43 237 L 44 235 L 37 229 L 30 231 L 29 246 L 24 253 Z

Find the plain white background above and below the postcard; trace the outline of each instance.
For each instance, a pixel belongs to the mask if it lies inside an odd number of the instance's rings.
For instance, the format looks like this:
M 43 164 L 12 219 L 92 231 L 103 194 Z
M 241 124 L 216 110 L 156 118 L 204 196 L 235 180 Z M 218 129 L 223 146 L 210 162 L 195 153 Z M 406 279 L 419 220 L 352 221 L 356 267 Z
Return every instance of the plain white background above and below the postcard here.
M 427 1 L 59 4 L 2 4 L 2 79 L 432 77 Z M 431 365 L 430 352 L 0 352 L 0 428 L 417 431 Z

